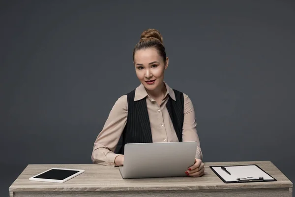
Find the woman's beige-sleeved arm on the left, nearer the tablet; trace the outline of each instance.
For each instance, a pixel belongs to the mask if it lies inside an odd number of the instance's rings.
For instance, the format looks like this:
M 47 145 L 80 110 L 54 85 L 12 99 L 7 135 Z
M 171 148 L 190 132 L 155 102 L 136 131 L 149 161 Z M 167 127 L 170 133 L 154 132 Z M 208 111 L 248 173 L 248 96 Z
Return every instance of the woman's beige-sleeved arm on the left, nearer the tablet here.
M 105 125 L 98 134 L 91 155 L 93 164 L 122 165 L 122 156 L 115 154 L 119 138 L 125 128 L 128 114 L 127 96 L 120 97 L 114 104 Z

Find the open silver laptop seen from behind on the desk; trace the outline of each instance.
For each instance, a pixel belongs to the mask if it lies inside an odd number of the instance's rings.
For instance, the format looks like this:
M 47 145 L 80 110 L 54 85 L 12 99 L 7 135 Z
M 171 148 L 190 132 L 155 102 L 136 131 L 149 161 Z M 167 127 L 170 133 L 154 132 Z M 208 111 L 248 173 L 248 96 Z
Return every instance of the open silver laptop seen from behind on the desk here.
M 195 162 L 197 142 L 154 142 L 126 144 L 123 179 L 186 176 Z

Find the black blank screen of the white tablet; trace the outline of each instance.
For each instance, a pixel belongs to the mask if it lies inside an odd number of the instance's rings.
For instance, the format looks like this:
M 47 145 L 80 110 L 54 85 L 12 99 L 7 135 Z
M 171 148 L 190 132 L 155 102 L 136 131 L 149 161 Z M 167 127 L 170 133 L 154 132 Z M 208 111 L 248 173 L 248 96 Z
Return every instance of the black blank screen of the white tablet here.
M 56 180 L 63 180 L 73 174 L 76 174 L 77 170 L 65 170 L 65 169 L 51 169 L 47 172 L 39 174 L 34 178 L 42 178 L 42 179 L 56 179 Z

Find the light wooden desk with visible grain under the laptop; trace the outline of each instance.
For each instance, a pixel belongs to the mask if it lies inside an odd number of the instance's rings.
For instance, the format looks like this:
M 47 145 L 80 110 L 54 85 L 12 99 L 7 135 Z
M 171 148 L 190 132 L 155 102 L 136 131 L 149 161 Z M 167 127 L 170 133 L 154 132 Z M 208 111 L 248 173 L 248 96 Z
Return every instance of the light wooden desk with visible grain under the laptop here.
M 223 183 L 209 165 L 258 164 L 275 182 Z M 51 167 L 85 169 L 65 183 L 29 181 Z M 118 167 L 98 164 L 28 165 L 9 187 L 10 197 L 292 197 L 292 182 L 269 161 L 205 163 L 203 177 L 122 179 Z M 144 169 L 143 169 L 144 170 Z

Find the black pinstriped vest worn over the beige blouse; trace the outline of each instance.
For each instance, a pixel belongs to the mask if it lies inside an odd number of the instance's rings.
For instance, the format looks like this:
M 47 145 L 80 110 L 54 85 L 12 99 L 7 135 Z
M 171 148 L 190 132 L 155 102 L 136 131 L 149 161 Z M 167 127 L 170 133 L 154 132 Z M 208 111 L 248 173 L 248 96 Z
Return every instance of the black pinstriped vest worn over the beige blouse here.
M 167 110 L 172 120 L 178 141 L 182 141 L 183 94 L 174 90 L 176 101 L 168 98 Z M 152 143 L 146 98 L 134 101 L 135 90 L 127 94 L 127 123 L 118 141 L 115 153 L 124 154 L 127 143 Z

